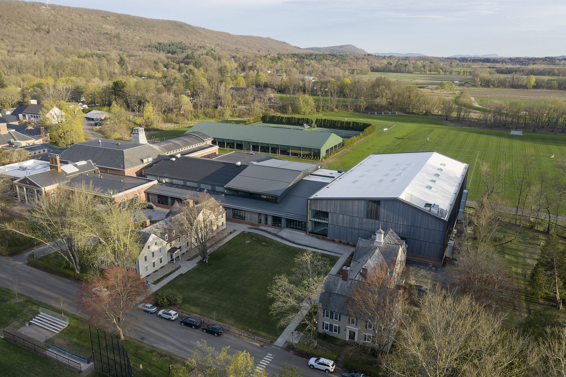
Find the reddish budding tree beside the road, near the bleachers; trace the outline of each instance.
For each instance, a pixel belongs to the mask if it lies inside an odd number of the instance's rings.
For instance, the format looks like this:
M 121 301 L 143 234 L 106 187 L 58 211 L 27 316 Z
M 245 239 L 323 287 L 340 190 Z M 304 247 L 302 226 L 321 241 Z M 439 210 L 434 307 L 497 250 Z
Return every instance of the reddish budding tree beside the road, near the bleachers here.
M 124 339 L 128 314 L 149 295 L 148 285 L 135 269 L 126 270 L 113 266 L 106 268 L 102 276 L 85 282 L 75 292 L 75 303 L 79 310 L 95 323 L 114 325 Z

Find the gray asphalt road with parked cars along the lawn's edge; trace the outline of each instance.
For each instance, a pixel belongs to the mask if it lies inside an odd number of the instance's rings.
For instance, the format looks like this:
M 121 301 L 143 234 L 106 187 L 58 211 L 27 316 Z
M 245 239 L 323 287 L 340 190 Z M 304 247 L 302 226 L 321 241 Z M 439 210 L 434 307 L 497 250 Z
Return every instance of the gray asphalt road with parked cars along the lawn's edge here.
M 58 306 L 58 298 L 61 295 L 67 300 L 66 311 L 81 315 L 76 310 L 75 305 L 72 304 L 73 292 L 78 289 L 78 283 L 29 267 L 25 265 L 26 262 L 26 254 L 0 257 L 0 285 L 11 289 L 12 281 L 15 278 L 21 285 L 20 293 L 54 307 Z M 280 372 L 285 363 L 289 367 L 296 366 L 305 377 L 324 375 L 323 371 L 311 370 L 306 359 L 277 348 L 259 346 L 227 334 L 215 337 L 212 334 L 204 333 L 201 329 L 182 327 L 179 324 L 179 319 L 169 321 L 158 318 L 156 313 L 149 314 L 141 310 L 133 310 L 130 316 L 132 322 L 136 325 L 127 334 L 128 336 L 181 357 L 188 357 L 191 350 L 195 348 L 196 342 L 204 339 L 209 346 L 213 346 L 217 351 L 225 346 L 230 346 L 230 353 L 246 350 L 254 357 L 257 365 L 265 365 L 265 370 L 269 375 Z M 341 370 L 336 369 L 333 375 L 341 375 L 341 373 Z

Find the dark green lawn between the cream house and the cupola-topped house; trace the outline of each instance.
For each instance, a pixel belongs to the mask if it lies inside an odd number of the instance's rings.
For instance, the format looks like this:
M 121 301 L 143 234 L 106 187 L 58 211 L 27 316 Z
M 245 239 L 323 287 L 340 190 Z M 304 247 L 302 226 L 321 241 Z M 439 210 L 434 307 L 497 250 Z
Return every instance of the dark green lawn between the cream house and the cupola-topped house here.
M 246 241 L 250 241 L 246 243 Z M 265 243 L 267 245 L 262 245 Z M 289 273 L 302 249 L 256 233 L 240 233 L 213 252 L 208 263 L 179 275 L 164 289 L 183 295 L 180 309 L 271 339 L 283 331 L 269 314 L 267 288 L 273 277 Z M 334 265 L 336 256 L 323 255 Z

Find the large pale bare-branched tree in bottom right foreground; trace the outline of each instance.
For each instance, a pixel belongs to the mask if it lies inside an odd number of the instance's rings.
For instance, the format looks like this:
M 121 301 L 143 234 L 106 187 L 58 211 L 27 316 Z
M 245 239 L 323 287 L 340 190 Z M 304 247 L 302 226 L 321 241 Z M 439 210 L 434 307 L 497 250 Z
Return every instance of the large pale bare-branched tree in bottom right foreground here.
M 502 326 L 464 295 L 435 289 L 420 301 L 421 310 L 400 327 L 396 351 L 383 366 L 397 376 L 517 376 L 534 369 L 533 344 Z

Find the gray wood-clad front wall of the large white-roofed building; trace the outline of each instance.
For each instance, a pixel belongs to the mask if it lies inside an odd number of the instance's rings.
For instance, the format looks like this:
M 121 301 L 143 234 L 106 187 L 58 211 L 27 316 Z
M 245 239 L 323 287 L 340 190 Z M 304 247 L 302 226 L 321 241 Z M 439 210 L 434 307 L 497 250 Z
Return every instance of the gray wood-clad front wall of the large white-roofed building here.
M 393 229 L 408 245 L 408 252 L 441 259 L 447 221 L 401 200 L 381 200 L 379 220 L 366 219 L 367 200 L 311 199 L 310 209 L 328 212 L 328 237 L 357 242 L 381 229 Z

